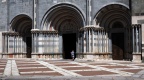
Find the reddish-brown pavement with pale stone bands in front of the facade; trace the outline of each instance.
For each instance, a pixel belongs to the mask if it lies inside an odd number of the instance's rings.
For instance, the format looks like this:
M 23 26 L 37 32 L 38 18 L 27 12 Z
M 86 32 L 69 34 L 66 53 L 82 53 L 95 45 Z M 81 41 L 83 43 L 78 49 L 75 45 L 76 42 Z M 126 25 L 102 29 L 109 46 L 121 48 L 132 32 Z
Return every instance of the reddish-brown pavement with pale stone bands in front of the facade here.
M 144 63 L 0 59 L 2 80 L 144 80 Z

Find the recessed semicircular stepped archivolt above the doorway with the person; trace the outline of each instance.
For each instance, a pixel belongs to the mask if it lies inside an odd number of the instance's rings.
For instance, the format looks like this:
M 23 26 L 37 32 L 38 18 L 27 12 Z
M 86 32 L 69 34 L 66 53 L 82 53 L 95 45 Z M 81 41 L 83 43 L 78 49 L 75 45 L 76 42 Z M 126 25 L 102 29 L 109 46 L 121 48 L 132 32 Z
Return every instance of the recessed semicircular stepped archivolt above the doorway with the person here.
M 71 5 L 59 5 L 54 7 L 52 11 L 48 12 L 44 23 L 42 24 L 42 30 L 57 30 L 61 31 L 70 29 L 79 29 L 85 24 L 85 19 L 81 12 Z

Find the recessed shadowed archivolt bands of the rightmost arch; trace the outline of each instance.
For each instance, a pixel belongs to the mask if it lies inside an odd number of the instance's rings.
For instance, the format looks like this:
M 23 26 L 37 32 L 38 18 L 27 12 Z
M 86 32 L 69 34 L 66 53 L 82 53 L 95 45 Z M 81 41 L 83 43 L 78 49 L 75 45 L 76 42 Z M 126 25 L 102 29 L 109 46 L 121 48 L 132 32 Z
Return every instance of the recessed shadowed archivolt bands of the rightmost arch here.
M 111 28 L 114 22 L 121 22 L 124 27 L 131 25 L 130 10 L 119 4 L 111 4 L 103 7 L 95 16 L 96 26 Z

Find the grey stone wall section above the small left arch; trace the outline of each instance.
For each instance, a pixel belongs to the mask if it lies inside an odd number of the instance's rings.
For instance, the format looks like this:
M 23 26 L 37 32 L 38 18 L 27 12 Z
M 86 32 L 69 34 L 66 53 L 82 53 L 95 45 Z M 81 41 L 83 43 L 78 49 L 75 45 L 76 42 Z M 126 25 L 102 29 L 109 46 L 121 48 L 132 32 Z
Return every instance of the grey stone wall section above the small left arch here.
M 7 0 L 9 10 L 9 22 L 20 14 L 25 14 L 31 17 L 33 14 L 33 0 Z

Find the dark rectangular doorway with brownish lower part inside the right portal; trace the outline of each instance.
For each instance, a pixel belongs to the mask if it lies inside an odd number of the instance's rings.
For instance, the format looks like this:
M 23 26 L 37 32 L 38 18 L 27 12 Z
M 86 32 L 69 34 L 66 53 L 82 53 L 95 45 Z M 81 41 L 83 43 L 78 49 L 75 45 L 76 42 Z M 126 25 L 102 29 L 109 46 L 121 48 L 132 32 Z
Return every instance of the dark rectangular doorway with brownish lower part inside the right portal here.
M 124 33 L 112 33 L 112 58 L 124 59 Z

